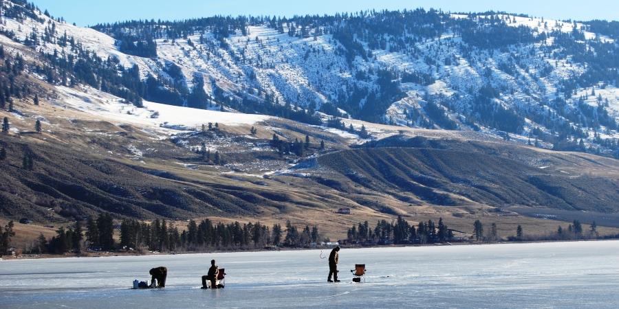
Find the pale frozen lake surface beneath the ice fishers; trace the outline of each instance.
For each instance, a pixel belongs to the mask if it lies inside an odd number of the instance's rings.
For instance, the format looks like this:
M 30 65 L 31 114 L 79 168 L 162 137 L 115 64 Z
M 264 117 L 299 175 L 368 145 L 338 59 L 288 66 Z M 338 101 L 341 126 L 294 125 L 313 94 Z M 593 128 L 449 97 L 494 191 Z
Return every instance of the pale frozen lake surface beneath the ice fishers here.
M 0 261 L 0 308 L 618 308 L 619 241 Z M 324 255 L 329 251 L 325 250 Z M 199 289 L 211 259 L 226 288 Z M 351 282 L 354 264 L 367 282 Z M 167 266 L 166 288 L 130 290 Z

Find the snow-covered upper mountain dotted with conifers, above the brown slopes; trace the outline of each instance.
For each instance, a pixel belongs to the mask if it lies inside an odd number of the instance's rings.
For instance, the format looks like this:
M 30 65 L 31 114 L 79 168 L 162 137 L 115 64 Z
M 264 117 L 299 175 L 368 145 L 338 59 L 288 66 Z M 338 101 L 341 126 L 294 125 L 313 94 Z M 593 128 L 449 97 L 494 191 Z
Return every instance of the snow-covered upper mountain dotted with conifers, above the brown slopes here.
M 138 105 L 482 130 L 618 155 L 616 23 L 404 10 L 84 28 L 3 5 L 2 44 L 47 55 L 42 79 Z

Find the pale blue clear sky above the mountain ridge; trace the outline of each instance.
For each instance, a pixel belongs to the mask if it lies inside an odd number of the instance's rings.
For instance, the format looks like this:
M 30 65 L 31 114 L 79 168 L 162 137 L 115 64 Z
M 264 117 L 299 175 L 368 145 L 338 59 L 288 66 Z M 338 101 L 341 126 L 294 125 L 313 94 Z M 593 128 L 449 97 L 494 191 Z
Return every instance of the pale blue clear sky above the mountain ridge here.
M 547 19 L 619 20 L 617 0 L 34 0 L 34 4 L 78 25 L 127 19 L 186 19 L 216 14 L 292 16 L 402 8 L 440 8 L 450 12 L 501 10 Z

